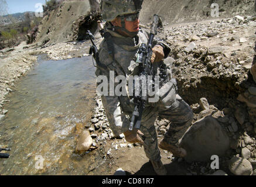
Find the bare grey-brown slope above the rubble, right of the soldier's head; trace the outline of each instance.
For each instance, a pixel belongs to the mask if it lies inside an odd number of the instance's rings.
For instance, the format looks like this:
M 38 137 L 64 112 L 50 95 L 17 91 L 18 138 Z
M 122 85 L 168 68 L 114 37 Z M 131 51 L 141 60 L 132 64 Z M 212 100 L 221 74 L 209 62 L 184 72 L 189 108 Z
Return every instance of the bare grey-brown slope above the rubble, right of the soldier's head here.
M 151 21 L 152 16 L 149 15 L 153 15 L 153 13 L 158 13 L 165 23 L 214 19 L 216 17 L 212 15 L 216 15 L 214 9 L 217 9 L 217 6 L 211 9 L 212 4 L 219 5 L 219 18 L 229 18 L 235 15 L 254 15 L 254 2 L 254 0 L 144 0 L 140 18 L 144 24 Z

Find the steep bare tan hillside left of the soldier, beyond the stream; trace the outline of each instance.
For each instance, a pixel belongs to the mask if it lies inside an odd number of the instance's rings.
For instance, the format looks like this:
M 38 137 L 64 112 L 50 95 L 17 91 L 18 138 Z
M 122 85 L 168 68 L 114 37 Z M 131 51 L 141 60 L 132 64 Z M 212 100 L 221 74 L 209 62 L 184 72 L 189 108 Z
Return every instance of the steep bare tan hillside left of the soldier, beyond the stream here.
M 89 1 L 64 1 L 42 20 L 37 34 L 39 44 L 74 40 L 74 23 L 90 12 Z

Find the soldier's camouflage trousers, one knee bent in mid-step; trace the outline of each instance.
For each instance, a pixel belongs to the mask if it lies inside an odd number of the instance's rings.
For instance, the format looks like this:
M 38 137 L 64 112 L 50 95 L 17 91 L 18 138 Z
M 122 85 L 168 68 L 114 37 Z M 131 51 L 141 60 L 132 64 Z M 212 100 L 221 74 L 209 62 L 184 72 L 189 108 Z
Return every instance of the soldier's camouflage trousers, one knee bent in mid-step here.
M 156 117 L 169 120 L 170 127 L 164 139 L 166 143 L 178 146 L 180 138 L 186 132 L 193 120 L 193 112 L 190 106 L 183 99 L 176 99 L 169 109 L 148 106 L 142 115 L 141 131 L 144 133 L 144 151 L 150 160 L 158 161 L 161 159 L 158 148 L 158 138 L 155 129 Z

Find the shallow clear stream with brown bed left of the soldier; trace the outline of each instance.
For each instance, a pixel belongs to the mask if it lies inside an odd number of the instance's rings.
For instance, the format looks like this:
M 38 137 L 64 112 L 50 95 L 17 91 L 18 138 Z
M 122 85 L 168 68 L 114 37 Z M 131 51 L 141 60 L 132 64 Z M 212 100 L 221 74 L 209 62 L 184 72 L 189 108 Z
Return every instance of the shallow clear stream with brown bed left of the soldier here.
M 102 164 L 101 150 L 74 153 L 78 132 L 90 120 L 95 95 L 91 57 L 45 60 L 16 83 L 0 122 L 1 175 L 87 175 Z M 96 172 L 100 172 L 95 170 Z

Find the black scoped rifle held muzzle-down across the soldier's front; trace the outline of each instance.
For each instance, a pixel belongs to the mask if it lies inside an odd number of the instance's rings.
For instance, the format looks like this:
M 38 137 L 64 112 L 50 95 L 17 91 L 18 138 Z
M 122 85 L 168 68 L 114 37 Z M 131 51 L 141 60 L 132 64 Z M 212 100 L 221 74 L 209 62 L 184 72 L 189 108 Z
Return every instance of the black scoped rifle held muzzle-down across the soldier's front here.
M 146 101 L 148 99 L 147 94 L 143 95 L 142 93 L 147 92 L 147 88 L 145 86 L 142 86 L 142 82 L 146 82 L 148 75 L 152 75 L 152 64 L 151 64 L 151 56 L 152 56 L 152 43 L 153 43 L 153 38 L 157 34 L 157 27 L 159 23 L 159 16 L 158 15 L 153 15 L 153 22 L 151 25 L 151 33 L 149 35 L 149 40 L 148 44 L 142 43 L 141 47 L 139 47 L 138 50 L 138 56 L 136 63 L 138 63 L 138 68 L 139 68 L 139 74 L 138 77 L 134 79 L 134 81 L 139 81 L 139 94 L 138 96 L 133 97 L 133 102 L 134 102 L 134 112 L 132 112 L 132 117 L 131 117 L 131 122 L 129 125 L 129 130 L 134 129 L 140 129 L 141 127 L 141 118 L 142 118 L 142 113 L 145 108 Z M 136 89 L 136 88 L 135 88 Z M 134 90 L 135 91 L 135 90 Z M 136 93 L 136 91 L 135 91 Z

